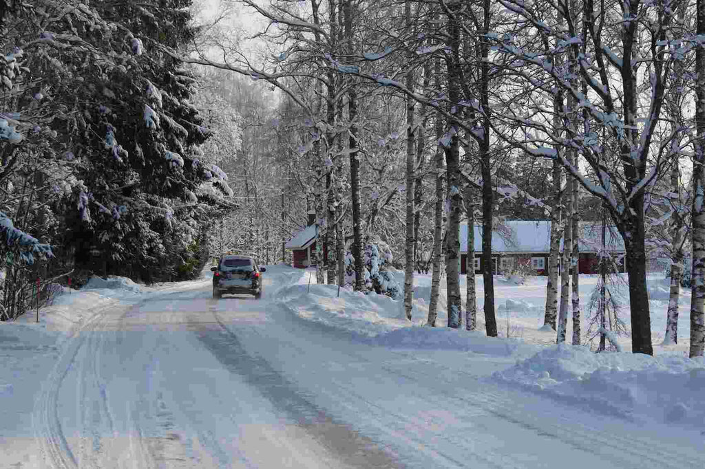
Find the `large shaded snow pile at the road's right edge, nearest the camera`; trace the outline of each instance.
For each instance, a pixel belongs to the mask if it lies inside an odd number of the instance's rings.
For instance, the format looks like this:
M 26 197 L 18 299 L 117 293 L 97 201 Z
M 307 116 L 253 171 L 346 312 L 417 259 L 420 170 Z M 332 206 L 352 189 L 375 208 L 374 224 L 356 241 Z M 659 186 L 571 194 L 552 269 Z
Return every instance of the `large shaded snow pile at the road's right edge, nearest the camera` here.
M 705 360 L 550 346 L 493 379 L 594 411 L 705 429 Z

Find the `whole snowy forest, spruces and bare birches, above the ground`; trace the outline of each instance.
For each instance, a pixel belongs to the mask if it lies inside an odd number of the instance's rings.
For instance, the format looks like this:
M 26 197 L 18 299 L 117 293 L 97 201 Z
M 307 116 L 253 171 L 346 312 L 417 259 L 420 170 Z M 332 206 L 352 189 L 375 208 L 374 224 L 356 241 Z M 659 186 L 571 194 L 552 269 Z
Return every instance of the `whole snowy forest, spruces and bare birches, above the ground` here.
M 653 353 L 647 261 L 666 257 L 667 337 L 689 272 L 703 354 L 705 0 L 235 0 L 208 24 L 198 8 L 0 0 L 6 310 L 40 272 L 149 282 L 226 250 L 285 261 L 315 211 L 319 282 L 343 284 L 348 259 L 367 288 L 379 242 L 411 318 L 429 253 L 427 323 L 444 274 L 448 326 L 467 329 L 458 226 L 477 223 L 494 337 L 493 227 L 551 220 L 545 322 L 565 342 L 581 312 L 560 238 L 575 265 L 577 221 L 604 213 L 627 251 L 632 351 Z

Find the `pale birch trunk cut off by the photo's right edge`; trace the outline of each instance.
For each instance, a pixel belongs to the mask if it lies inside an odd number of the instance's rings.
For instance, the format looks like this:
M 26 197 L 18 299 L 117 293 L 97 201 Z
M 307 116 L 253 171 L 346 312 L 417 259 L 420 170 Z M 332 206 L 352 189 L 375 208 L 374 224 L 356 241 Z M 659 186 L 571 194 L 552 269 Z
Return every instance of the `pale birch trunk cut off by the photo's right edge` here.
M 705 36 L 705 0 L 697 0 L 697 37 Z M 690 350 L 689 356 L 703 356 L 705 351 L 705 44 L 695 48 L 695 151 L 693 155 L 693 271 L 690 299 Z

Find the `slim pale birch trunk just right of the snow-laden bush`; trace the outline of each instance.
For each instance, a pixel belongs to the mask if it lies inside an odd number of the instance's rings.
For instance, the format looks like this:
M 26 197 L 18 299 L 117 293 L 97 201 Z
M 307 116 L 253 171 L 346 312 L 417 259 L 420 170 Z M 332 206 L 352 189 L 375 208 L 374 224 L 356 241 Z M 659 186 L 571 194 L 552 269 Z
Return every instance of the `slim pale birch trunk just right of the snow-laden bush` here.
M 407 26 L 410 27 L 411 1 L 405 1 L 405 15 Z M 414 73 L 408 70 L 406 74 L 407 89 L 414 89 Z M 411 320 L 411 308 L 414 301 L 414 265 L 415 265 L 415 237 L 414 237 L 414 166 L 416 152 L 414 148 L 414 110 L 415 99 L 406 97 L 406 263 L 404 265 L 404 313 Z

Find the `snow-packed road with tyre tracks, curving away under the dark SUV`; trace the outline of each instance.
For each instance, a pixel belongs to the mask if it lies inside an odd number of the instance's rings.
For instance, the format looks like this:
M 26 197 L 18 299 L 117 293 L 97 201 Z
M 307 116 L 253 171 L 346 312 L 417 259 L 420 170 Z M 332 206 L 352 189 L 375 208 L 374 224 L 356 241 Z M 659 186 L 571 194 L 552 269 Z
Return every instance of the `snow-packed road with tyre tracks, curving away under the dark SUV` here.
M 93 311 L 32 413 L 49 468 L 701 468 L 703 437 L 486 379 L 508 358 L 372 346 L 209 282 Z M 19 467 L 19 466 L 17 466 Z M 31 467 L 31 466 L 27 466 Z

